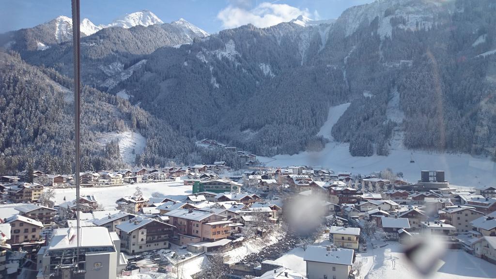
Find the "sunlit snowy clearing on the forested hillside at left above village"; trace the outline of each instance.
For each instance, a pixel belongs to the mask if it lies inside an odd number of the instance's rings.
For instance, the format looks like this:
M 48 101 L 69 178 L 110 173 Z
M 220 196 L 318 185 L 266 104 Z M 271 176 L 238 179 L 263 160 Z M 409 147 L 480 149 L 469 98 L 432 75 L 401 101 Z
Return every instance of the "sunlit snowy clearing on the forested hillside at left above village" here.
M 121 133 L 105 133 L 98 136 L 102 145 L 111 140 L 119 140 L 119 151 L 125 163 L 134 164 L 136 154 L 143 152 L 146 146 L 146 138 L 141 134 L 131 131 Z M 134 150 L 134 152 L 133 152 Z

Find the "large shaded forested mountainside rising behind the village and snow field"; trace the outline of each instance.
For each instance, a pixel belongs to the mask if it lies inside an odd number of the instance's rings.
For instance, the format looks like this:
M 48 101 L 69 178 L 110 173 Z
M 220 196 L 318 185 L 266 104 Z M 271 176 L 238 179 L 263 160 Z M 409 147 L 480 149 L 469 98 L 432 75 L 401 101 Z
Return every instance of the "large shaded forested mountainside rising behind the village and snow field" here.
M 83 81 L 188 142 L 260 155 L 319 148 L 329 107 L 345 102 L 332 135 L 352 155 L 387 155 L 393 135 L 407 148 L 494 154 L 495 21 L 490 0 L 380 0 L 333 23 L 246 25 L 180 47 L 164 25 L 106 28 L 82 39 Z M 70 43 L 21 56 L 71 74 Z M 146 162 L 202 160 L 187 152 Z

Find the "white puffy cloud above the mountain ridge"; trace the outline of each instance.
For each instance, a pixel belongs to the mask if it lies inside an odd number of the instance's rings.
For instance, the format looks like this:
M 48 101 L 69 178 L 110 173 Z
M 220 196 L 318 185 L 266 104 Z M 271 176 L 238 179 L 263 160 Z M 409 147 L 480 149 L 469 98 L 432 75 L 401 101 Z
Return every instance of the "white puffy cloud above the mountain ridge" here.
M 217 14 L 224 28 L 234 28 L 251 23 L 256 27 L 268 27 L 290 21 L 299 15 L 310 16 L 308 9 L 299 9 L 287 4 L 263 2 L 252 9 L 246 5 L 230 4 Z

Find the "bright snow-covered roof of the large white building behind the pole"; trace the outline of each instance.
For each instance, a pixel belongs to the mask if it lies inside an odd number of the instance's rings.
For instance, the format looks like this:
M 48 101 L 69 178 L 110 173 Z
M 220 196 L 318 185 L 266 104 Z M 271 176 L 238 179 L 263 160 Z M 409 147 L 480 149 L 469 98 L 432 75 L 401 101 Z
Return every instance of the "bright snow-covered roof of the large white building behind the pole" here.
M 54 229 L 53 237 L 48 246 L 49 251 L 75 248 L 77 246 L 77 229 Z M 79 228 L 80 247 L 113 247 L 109 231 L 104 227 Z

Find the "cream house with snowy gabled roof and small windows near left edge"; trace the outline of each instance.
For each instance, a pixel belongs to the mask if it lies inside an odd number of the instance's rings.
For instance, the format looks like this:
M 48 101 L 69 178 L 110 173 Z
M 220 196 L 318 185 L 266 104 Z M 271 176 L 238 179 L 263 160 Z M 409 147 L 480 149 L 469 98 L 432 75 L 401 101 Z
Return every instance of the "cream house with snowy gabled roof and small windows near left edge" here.
M 43 243 L 40 231 L 44 228 L 43 223 L 20 214 L 12 215 L 5 219 L 10 224 L 10 240 L 7 241 L 12 247 L 28 246 L 36 247 Z

